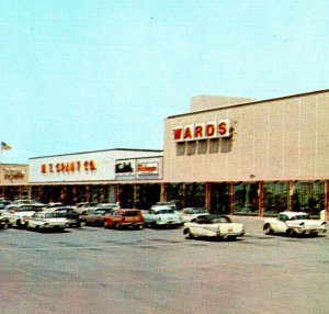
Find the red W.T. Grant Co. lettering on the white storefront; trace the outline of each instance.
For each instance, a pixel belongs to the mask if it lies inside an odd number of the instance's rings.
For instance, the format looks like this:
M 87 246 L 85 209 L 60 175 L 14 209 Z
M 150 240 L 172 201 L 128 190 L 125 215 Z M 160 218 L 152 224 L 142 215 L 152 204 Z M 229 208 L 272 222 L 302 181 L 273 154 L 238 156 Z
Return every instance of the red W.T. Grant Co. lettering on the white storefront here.
M 97 166 L 94 160 L 78 160 L 78 161 L 68 161 L 68 162 L 57 162 L 57 164 L 42 164 L 41 171 L 42 173 L 52 173 L 52 172 L 76 172 L 76 171 L 95 171 Z

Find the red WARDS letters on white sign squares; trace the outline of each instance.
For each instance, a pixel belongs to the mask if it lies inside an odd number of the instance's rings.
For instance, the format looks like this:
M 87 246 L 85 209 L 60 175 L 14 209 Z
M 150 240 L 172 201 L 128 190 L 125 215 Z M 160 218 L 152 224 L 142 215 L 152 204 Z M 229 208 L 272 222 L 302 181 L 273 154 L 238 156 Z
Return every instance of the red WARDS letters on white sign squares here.
M 229 137 L 229 120 L 211 121 L 206 123 L 188 124 L 173 128 L 173 141 L 201 141 L 208 138 Z

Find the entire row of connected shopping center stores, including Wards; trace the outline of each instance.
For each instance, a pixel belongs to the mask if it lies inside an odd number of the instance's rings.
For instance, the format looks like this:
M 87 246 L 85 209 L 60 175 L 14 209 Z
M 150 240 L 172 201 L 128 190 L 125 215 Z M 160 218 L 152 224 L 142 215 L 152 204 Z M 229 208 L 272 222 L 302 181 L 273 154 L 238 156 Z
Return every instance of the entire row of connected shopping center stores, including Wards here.
M 329 90 L 262 101 L 198 96 L 188 113 L 164 120 L 163 152 L 117 148 L 31 158 L 29 181 L 2 180 L 2 197 L 12 195 L 14 186 L 16 197 L 44 202 L 118 201 L 149 209 L 175 200 L 181 208 L 225 214 L 293 210 L 329 216 L 328 120 Z

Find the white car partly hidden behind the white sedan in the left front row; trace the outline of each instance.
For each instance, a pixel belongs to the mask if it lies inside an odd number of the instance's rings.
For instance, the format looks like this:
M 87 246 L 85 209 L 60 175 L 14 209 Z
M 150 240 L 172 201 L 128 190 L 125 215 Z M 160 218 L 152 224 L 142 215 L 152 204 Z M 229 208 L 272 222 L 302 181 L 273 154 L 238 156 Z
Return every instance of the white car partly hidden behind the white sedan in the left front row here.
M 35 212 L 42 211 L 43 208 L 43 204 L 8 205 L 2 216 L 8 218 L 8 226 L 25 227 L 27 218 Z

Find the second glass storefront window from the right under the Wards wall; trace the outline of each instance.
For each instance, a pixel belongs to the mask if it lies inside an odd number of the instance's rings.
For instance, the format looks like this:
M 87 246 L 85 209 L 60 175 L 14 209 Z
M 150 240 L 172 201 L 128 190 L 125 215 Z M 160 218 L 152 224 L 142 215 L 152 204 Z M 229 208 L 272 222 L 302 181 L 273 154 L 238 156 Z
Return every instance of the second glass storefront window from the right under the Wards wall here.
M 276 215 L 288 210 L 288 182 L 265 182 L 263 186 L 263 214 Z

